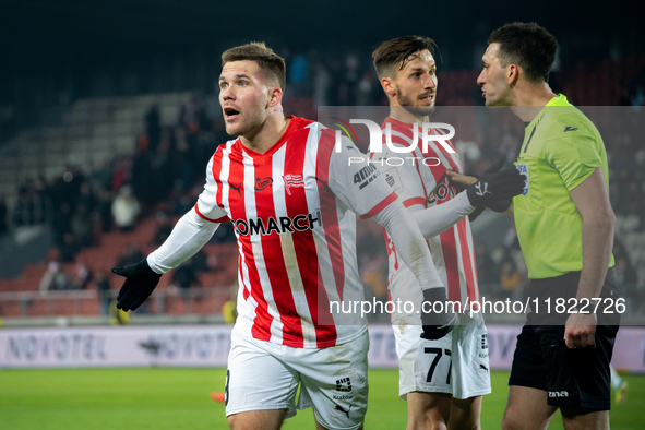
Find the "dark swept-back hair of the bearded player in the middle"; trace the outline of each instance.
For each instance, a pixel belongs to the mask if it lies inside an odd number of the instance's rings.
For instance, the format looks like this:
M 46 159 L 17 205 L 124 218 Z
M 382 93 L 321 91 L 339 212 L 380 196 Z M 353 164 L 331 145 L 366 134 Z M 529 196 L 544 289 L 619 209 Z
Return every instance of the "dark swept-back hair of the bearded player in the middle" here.
M 434 55 L 437 44 L 430 37 L 403 36 L 380 44 L 372 52 L 374 69 L 379 79 L 393 77 L 395 67 L 403 70 L 405 65 L 418 57 L 416 53 L 428 49 Z

